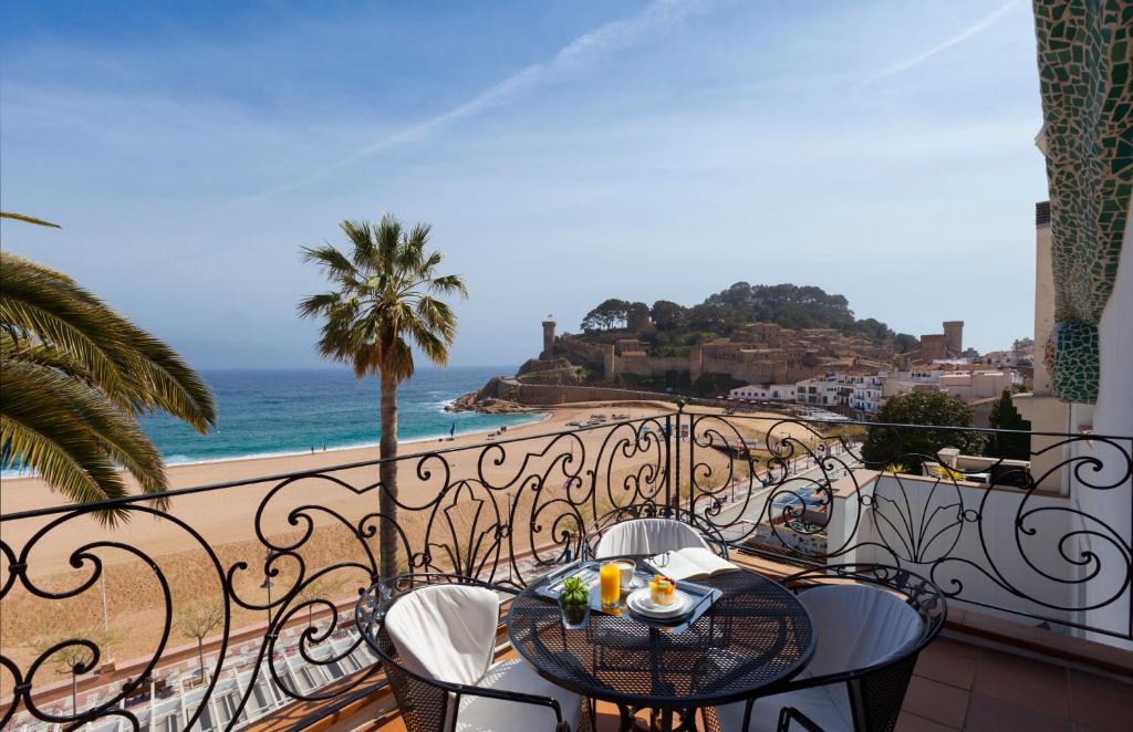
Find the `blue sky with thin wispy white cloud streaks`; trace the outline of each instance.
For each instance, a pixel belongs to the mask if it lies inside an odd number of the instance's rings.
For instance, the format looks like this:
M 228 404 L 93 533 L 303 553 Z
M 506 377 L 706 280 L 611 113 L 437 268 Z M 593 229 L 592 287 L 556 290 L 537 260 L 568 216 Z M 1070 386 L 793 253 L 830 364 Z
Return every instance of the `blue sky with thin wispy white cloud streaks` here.
M 1026 2 L 0 0 L 0 246 L 201 368 L 304 367 L 343 219 L 433 225 L 454 365 L 553 314 L 813 284 L 965 346 L 1033 331 Z

